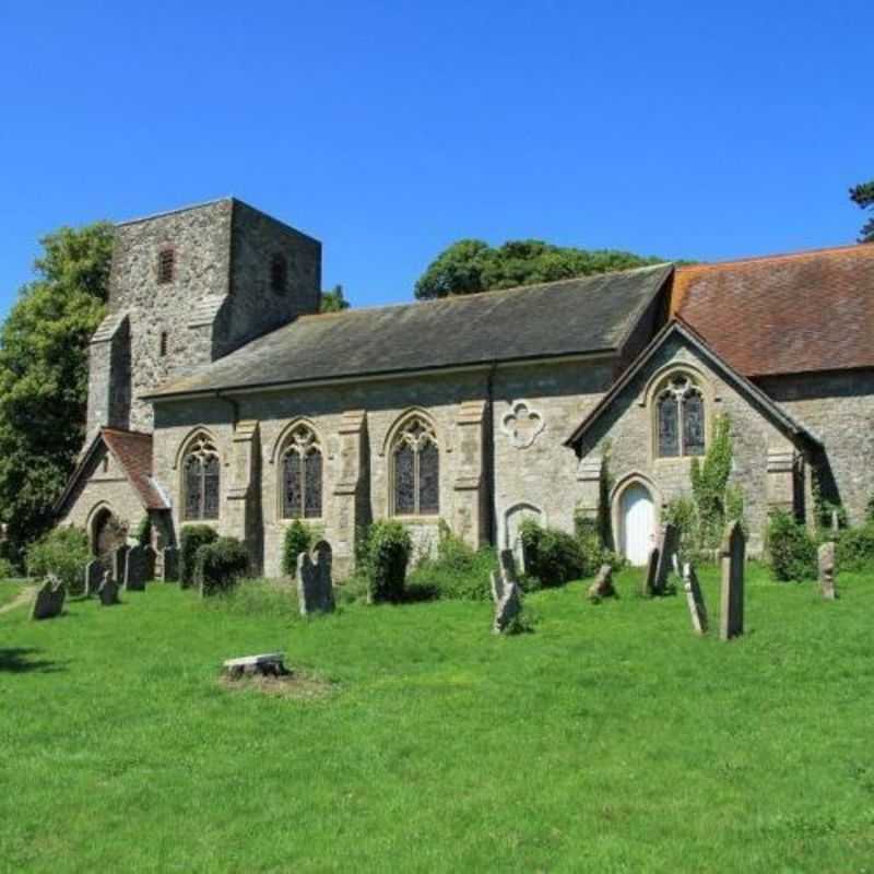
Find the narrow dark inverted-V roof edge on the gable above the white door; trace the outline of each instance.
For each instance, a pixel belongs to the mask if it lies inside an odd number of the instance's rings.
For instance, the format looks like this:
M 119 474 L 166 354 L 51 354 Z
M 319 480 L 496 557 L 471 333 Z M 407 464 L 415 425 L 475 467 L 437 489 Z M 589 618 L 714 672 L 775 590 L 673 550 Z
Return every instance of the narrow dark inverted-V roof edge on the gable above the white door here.
M 752 398 L 771 418 L 772 422 L 784 433 L 792 437 L 800 438 L 807 444 L 822 446 L 819 438 L 807 427 L 793 418 L 780 404 L 771 400 L 758 386 L 751 382 L 745 376 L 739 374 L 729 362 L 720 357 L 696 332 L 684 324 L 681 319 L 674 318 L 669 321 L 661 331 L 652 339 L 652 342 L 635 358 L 628 369 L 613 383 L 610 391 L 595 404 L 583 421 L 577 426 L 570 437 L 565 440 L 565 446 L 572 449 L 579 447 L 580 440 L 594 423 L 615 403 L 616 399 L 624 391 L 626 386 L 647 366 L 659 349 L 668 342 L 673 334 L 680 334 L 696 352 L 701 355 L 714 369 L 721 371 L 722 376 L 736 388 L 741 389 L 747 398 Z

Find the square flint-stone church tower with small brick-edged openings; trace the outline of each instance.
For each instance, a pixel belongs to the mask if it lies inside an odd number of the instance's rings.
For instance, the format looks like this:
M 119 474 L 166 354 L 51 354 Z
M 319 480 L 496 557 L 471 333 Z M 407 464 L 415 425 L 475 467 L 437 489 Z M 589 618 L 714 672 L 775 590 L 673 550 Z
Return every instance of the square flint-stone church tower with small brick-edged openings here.
M 151 433 L 141 395 L 317 312 L 320 290 L 321 244 L 234 198 L 118 225 L 86 445 L 101 427 Z

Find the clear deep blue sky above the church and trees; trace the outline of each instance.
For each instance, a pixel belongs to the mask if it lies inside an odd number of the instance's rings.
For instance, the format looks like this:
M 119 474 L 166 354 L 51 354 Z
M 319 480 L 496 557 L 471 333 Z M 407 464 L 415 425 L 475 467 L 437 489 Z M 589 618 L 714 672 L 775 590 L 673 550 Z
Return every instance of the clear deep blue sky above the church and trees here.
M 355 305 L 460 237 L 852 243 L 871 0 L 0 5 L 0 314 L 40 235 L 235 194 Z

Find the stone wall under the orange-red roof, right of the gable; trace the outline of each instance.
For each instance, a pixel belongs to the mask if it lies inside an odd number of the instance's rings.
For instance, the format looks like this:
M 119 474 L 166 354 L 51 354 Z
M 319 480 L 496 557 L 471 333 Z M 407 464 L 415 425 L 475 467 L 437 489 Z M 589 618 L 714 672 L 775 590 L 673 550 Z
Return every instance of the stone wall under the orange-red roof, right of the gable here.
M 826 479 L 834 479 L 850 521 L 865 517 L 874 496 L 874 370 L 768 377 L 761 388 L 825 445 Z M 828 495 L 827 495 L 828 496 Z

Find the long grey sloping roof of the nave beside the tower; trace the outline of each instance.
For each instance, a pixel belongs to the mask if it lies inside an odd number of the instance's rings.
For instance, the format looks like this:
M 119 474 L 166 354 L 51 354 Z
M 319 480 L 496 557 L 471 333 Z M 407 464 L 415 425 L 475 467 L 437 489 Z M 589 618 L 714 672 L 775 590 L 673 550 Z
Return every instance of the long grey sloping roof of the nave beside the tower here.
M 672 272 L 672 264 L 659 264 L 304 316 L 144 397 L 614 352 Z

